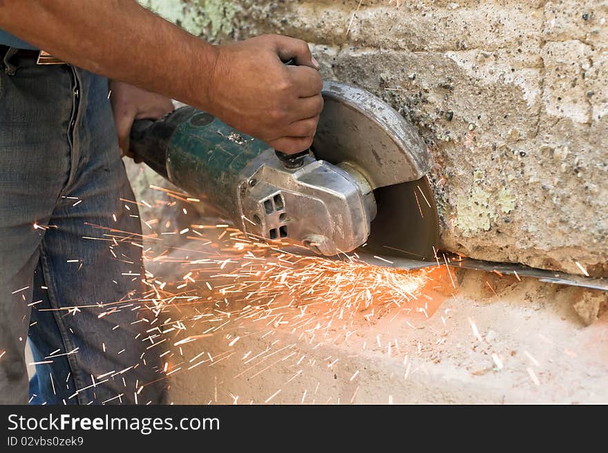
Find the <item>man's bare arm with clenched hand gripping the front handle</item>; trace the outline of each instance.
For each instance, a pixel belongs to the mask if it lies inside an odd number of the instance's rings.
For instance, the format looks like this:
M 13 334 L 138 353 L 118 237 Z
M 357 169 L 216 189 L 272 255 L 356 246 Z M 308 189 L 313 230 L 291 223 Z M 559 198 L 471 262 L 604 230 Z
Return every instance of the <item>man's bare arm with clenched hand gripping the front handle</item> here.
M 310 147 L 323 108 L 319 63 L 300 39 L 211 46 L 135 0 L 0 0 L 0 28 L 75 66 L 206 110 L 283 152 Z

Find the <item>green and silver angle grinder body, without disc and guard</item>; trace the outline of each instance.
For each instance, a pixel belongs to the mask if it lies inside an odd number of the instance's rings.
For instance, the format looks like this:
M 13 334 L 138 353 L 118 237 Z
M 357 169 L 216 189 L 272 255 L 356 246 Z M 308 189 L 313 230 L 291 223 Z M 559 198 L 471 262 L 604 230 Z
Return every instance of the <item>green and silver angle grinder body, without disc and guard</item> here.
M 196 197 L 228 214 L 258 240 L 350 252 L 365 242 L 376 215 L 362 174 L 304 155 L 294 165 L 262 141 L 189 106 L 159 121 L 137 122 L 134 154 Z

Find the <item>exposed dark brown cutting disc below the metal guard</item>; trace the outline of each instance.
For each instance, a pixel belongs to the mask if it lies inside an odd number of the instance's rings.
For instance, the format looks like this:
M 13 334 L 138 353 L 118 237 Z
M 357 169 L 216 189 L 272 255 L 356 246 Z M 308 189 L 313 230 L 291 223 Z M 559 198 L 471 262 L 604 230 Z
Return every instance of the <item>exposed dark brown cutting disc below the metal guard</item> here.
M 431 261 L 439 244 L 439 218 L 427 177 L 374 190 L 378 214 L 361 252 Z

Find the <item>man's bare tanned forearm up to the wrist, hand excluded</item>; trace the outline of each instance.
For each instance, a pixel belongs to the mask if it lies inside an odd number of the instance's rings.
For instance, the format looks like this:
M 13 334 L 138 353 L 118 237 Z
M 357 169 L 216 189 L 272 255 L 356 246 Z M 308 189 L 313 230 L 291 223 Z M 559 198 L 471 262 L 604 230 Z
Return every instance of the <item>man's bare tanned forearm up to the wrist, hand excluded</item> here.
M 214 46 L 134 0 L 3 0 L 0 28 L 75 66 L 209 108 Z

